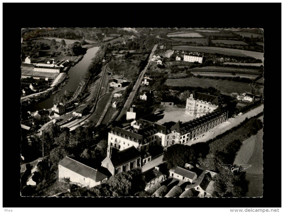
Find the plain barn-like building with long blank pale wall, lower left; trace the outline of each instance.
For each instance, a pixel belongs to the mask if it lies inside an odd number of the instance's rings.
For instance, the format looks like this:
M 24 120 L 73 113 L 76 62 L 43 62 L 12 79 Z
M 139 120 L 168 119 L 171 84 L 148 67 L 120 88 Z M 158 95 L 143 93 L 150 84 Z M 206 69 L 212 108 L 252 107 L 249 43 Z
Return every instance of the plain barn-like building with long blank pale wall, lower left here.
M 82 187 L 94 187 L 107 180 L 105 174 L 80 163 L 73 155 L 66 156 L 58 163 L 58 179 L 64 181 L 64 178 Z

